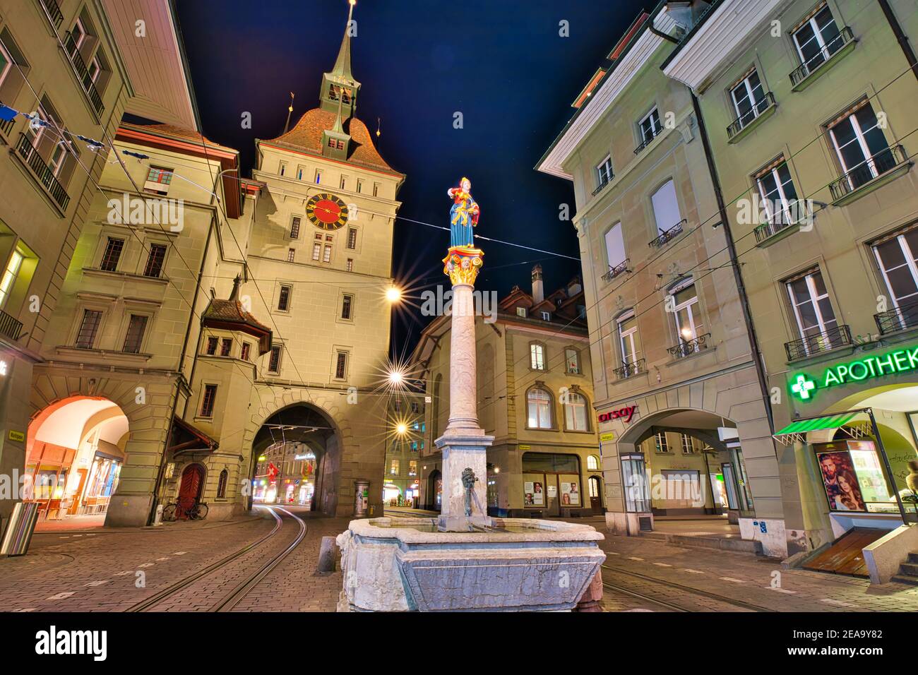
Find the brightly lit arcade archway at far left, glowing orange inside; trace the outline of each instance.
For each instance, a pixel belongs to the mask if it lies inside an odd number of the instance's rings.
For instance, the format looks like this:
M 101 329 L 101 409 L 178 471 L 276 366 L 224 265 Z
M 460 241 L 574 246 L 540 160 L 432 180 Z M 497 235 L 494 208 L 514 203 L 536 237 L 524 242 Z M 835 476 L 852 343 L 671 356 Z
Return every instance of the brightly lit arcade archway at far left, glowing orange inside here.
M 39 523 L 102 524 L 128 438 L 128 417 L 104 397 L 73 396 L 39 411 L 28 425 L 24 495 L 39 503 Z

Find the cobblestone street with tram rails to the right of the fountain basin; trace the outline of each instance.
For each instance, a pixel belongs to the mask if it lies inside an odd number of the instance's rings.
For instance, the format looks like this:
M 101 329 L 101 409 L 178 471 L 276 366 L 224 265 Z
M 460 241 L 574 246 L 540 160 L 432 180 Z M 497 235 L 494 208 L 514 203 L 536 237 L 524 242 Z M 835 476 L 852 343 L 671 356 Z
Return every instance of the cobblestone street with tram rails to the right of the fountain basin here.
M 746 604 L 773 612 L 918 611 L 918 588 L 906 584 L 871 586 L 867 579 L 782 570 L 778 560 L 765 557 L 604 534 L 601 546 L 608 554 L 604 582 L 691 612 L 756 611 Z M 678 611 L 609 586 L 603 609 Z

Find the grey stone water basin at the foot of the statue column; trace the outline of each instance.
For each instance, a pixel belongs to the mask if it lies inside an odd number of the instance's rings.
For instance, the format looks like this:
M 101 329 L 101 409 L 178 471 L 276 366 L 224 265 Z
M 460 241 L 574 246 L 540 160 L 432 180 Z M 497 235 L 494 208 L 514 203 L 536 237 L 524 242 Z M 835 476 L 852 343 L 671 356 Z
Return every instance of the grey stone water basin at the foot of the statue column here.
M 441 532 L 434 518 L 355 520 L 338 535 L 339 611 L 571 610 L 606 554 L 589 525 L 490 519 L 491 531 Z

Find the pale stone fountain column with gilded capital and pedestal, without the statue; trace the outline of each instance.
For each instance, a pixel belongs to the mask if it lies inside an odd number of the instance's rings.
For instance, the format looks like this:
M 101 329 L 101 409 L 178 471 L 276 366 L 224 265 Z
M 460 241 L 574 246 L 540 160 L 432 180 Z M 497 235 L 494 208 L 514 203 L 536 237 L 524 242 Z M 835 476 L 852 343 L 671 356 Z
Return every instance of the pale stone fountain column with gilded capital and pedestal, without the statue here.
M 467 531 L 487 524 L 487 448 L 494 436 L 478 425 L 475 340 L 475 280 L 485 253 L 469 246 L 453 246 L 443 258 L 443 274 L 453 283 L 450 334 L 450 419 L 434 443 L 442 451 L 440 527 Z M 472 514 L 465 514 L 466 468 L 475 472 Z

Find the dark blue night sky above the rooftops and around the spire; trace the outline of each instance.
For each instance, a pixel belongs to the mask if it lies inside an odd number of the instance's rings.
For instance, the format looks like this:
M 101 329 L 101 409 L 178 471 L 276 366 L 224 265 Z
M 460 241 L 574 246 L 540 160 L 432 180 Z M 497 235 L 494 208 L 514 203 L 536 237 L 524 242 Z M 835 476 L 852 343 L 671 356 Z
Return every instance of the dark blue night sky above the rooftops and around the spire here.
M 577 235 L 558 219 L 575 212 L 571 184 L 532 167 L 574 112 L 589 77 L 638 12 L 654 0 L 358 0 L 353 74 L 362 83 L 356 116 L 377 148 L 408 174 L 399 216 L 449 225 L 446 189 L 462 175 L 481 207 L 476 233 L 578 257 Z M 322 73 L 341 45 L 346 0 L 184 0 L 176 3 L 204 134 L 241 152 L 243 175 L 254 139 L 284 128 L 289 93 L 297 96 L 291 126 L 319 105 Z M 559 37 L 559 22 L 570 37 Z M 241 129 L 243 111 L 252 129 Z M 453 129 L 462 112 L 464 128 Z M 442 257 L 449 233 L 396 220 L 393 273 L 424 285 L 447 282 Z M 503 297 L 528 287 L 535 261 L 546 295 L 580 274 L 577 261 L 479 242 L 485 266 L 476 287 Z M 400 310 L 393 349 L 410 348 L 428 318 Z

